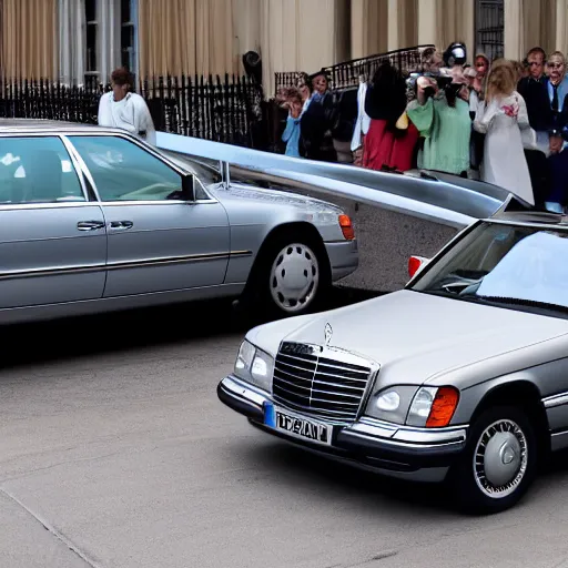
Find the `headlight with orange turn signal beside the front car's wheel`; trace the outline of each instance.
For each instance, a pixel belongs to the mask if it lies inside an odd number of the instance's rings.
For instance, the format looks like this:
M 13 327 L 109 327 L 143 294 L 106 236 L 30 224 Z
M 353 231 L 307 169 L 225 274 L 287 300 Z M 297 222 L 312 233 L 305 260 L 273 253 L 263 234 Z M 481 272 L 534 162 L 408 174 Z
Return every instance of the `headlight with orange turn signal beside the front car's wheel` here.
M 452 386 L 423 386 L 416 393 L 406 424 L 427 428 L 447 426 L 459 402 L 459 392 Z

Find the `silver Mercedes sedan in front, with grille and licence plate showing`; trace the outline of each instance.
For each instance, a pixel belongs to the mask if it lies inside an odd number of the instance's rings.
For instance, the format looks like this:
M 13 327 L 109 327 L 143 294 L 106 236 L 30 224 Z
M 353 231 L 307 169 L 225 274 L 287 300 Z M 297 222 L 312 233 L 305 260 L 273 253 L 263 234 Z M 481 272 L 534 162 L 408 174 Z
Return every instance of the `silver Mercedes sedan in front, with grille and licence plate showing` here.
M 568 447 L 568 219 L 503 212 L 402 291 L 251 329 L 220 399 L 274 436 L 499 511 Z

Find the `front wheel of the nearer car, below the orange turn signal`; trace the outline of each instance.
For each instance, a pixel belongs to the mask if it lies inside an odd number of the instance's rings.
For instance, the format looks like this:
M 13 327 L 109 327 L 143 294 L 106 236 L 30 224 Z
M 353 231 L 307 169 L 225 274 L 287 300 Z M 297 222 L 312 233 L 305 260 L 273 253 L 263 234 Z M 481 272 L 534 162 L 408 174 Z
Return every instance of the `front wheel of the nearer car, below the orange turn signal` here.
M 515 506 L 536 477 L 537 446 L 535 428 L 521 408 L 495 406 L 485 410 L 449 471 L 459 508 L 493 514 Z

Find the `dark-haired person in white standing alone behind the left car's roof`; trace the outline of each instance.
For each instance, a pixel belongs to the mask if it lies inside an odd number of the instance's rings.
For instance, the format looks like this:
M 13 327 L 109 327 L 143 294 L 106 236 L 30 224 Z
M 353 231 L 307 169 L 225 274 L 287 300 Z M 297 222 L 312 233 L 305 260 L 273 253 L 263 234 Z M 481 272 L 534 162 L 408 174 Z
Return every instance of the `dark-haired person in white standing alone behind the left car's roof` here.
M 131 74 L 124 68 L 111 74 L 112 91 L 99 102 L 99 125 L 122 129 L 155 145 L 155 128 L 146 102 L 130 92 Z

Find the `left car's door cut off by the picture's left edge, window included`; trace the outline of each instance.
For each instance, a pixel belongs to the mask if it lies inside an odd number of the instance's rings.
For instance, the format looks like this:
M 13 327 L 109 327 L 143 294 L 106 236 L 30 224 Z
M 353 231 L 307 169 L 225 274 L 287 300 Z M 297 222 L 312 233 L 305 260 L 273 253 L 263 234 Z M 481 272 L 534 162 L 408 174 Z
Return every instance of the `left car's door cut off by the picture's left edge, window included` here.
M 106 231 L 58 135 L 0 136 L 0 310 L 102 297 Z

